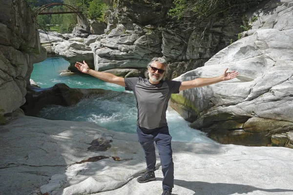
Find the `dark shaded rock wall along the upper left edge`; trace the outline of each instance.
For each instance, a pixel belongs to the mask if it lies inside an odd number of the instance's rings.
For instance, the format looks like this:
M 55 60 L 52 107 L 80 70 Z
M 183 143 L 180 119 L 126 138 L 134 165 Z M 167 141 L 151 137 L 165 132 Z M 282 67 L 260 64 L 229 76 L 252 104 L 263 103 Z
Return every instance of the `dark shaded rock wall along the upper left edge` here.
M 46 58 L 35 20 L 25 0 L 1 1 L 0 116 L 25 102 L 33 63 Z

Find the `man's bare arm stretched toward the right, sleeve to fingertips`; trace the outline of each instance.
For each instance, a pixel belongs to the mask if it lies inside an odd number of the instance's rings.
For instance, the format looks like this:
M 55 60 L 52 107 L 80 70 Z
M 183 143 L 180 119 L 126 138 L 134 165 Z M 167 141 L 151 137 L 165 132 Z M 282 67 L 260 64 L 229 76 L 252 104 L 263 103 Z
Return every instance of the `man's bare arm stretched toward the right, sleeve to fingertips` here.
M 238 73 L 235 71 L 227 72 L 228 68 L 224 71 L 223 75 L 214 78 L 195 78 L 194 80 L 183 81 L 180 85 L 179 91 L 185 89 L 191 89 L 195 87 L 202 87 L 211 85 L 217 82 L 221 82 L 224 80 L 230 80 L 232 78 L 236 78 Z

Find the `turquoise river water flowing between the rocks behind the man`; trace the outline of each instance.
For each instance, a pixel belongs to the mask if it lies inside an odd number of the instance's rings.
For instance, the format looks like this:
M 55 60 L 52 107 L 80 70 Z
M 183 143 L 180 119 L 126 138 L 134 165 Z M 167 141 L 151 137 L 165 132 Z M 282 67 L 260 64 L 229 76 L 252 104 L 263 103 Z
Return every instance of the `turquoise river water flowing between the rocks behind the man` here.
M 124 87 L 84 74 L 60 76 L 60 71 L 66 70 L 68 66 L 69 62 L 62 58 L 47 58 L 34 64 L 31 78 L 42 88 L 62 82 L 69 87 L 109 89 L 113 93 L 83 99 L 70 107 L 50 105 L 42 109 L 38 117 L 92 121 L 109 130 L 136 133 L 137 109 L 132 92 L 126 92 Z M 167 121 L 173 141 L 215 143 L 201 131 L 190 128 L 189 122 L 171 109 L 167 111 Z

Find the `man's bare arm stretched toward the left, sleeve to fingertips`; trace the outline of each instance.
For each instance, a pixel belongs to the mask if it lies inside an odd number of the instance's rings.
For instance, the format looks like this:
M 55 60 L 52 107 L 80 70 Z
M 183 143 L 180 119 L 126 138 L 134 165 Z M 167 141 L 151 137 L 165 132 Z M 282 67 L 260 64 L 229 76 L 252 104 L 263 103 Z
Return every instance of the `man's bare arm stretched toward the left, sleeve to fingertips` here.
M 117 77 L 111 73 L 103 73 L 103 72 L 92 70 L 88 67 L 88 65 L 87 65 L 87 63 L 85 63 L 85 61 L 84 61 L 84 63 L 80 63 L 77 61 L 75 64 L 75 67 L 79 71 L 81 71 L 82 73 L 91 75 L 95 78 L 99 78 L 99 79 L 104 80 L 106 82 L 115 83 L 115 84 L 118 84 L 118 85 L 125 87 L 124 78 Z

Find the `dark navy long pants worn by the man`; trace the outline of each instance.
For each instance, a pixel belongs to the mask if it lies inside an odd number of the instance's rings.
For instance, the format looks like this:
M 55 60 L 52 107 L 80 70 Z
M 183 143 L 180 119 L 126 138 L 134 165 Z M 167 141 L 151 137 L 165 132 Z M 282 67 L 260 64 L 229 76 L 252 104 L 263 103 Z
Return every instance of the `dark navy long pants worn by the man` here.
M 138 140 L 145 151 L 146 169 L 155 171 L 156 154 L 154 141 L 157 144 L 163 172 L 163 190 L 174 187 L 174 163 L 172 159 L 171 139 L 168 126 L 148 130 L 137 127 Z

